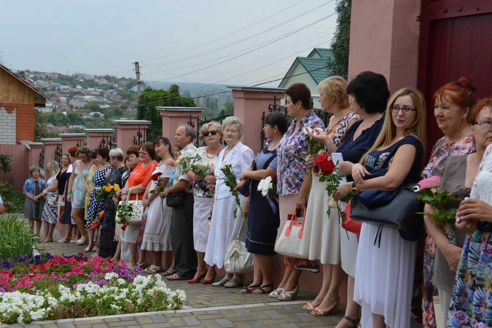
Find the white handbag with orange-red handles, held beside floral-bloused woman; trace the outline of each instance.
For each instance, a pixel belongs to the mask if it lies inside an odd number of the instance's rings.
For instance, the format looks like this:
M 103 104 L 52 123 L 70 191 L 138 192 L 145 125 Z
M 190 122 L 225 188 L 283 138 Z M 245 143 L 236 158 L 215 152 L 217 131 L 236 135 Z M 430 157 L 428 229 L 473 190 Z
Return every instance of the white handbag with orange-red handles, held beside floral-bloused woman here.
M 296 209 L 289 215 L 283 225 L 282 233 L 275 244 L 275 251 L 278 254 L 286 255 L 296 259 L 307 259 L 309 255 L 301 255 L 301 241 L 303 239 L 304 222 L 306 221 L 306 207 L 304 208 L 303 222 L 297 222 Z

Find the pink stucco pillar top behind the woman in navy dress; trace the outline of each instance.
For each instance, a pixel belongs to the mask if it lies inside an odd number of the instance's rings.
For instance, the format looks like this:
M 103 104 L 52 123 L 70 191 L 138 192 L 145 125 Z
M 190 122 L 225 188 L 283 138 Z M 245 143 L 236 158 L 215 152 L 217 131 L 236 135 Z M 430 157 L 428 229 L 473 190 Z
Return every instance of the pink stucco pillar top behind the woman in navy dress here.
M 283 88 L 261 88 L 261 87 L 243 87 L 227 86 L 232 89 L 234 97 L 234 115 L 245 122 L 245 132 L 242 142 L 251 148 L 254 153 L 261 151 L 261 129 L 262 116 L 268 115 L 268 106 L 273 104 L 274 96 L 277 97 L 277 103 L 284 97 Z

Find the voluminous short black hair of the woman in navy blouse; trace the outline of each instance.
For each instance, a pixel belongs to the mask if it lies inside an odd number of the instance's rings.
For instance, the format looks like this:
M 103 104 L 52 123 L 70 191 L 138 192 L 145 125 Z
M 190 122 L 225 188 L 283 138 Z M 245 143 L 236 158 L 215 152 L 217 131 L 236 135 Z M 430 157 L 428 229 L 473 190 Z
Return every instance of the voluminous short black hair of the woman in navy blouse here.
M 369 114 L 386 112 L 390 97 L 386 78 L 378 73 L 359 73 L 347 87 L 347 93 L 354 96 L 359 106 Z

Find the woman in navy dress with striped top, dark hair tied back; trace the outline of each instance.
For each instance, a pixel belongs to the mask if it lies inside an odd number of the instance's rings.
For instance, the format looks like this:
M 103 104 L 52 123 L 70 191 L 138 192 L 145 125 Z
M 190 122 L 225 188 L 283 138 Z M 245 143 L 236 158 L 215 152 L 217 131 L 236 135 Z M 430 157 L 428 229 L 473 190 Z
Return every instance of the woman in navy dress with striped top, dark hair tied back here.
M 277 185 L 277 144 L 287 131 L 287 119 L 279 112 L 273 112 L 265 118 L 263 128 L 267 141 L 265 148 L 256 156 L 256 167 L 247 170 L 239 176 L 241 185 L 249 179 L 249 206 L 247 201 L 246 249 L 253 254 L 254 279 L 251 285 L 243 288 L 243 294 L 267 294 L 273 291 L 272 256 L 275 255 L 274 246 L 277 238 L 277 228 L 280 224 L 278 202 L 275 197 L 263 196 L 258 191 L 261 179 L 272 178 L 273 185 Z M 253 165 L 254 166 L 254 165 Z M 246 211 L 245 211 L 246 213 Z

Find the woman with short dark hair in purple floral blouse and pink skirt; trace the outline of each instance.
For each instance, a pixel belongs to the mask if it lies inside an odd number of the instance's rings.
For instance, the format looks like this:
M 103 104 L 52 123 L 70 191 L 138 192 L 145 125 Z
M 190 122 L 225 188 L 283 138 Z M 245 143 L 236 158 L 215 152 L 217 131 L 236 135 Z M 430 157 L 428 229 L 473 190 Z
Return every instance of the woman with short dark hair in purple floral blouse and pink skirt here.
M 295 208 L 304 209 L 309 194 L 309 178 L 306 178 L 307 152 L 306 128 L 321 128 L 325 126 L 321 119 L 310 109 L 311 91 L 304 83 L 294 83 L 285 90 L 285 110 L 294 117 L 287 132 L 277 145 L 277 192 L 280 211 L 280 226 L 277 239 L 287 221 L 287 215 Z M 301 270 L 288 266 L 277 290 L 270 297 L 281 300 L 291 300 L 297 297 L 298 281 Z

